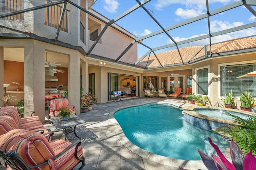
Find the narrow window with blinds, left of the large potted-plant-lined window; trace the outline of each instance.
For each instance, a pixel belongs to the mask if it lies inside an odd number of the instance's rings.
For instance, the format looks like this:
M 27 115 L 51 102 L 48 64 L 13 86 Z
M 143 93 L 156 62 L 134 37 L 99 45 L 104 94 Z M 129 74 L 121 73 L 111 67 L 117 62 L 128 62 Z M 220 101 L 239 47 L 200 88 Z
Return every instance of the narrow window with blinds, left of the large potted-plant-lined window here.
M 197 70 L 197 94 L 208 95 L 208 68 Z

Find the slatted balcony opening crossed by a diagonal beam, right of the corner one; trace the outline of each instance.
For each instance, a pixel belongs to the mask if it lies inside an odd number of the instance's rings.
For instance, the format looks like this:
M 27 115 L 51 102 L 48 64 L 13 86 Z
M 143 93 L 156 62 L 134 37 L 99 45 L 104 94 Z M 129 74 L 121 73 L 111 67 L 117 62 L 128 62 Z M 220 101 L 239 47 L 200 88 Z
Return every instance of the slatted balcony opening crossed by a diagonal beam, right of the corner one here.
M 47 4 L 52 3 L 52 1 L 47 0 L 46 1 Z M 47 8 L 45 8 L 45 21 L 44 24 L 48 25 L 50 27 L 54 27 L 54 28 L 58 28 L 58 23 L 60 20 L 60 15 L 62 13 L 62 7 L 63 4 L 60 5 L 55 5 L 55 6 L 49 6 Z M 68 10 L 68 4 L 66 6 L 65 12 L 64 12 L 64 16 L 63 16 L 63 20 L 62 20 L 62 24 L 60 25 L 60 30 L 68 32 L 69 29 L 69 20 L 70 20 L 70 10 Z

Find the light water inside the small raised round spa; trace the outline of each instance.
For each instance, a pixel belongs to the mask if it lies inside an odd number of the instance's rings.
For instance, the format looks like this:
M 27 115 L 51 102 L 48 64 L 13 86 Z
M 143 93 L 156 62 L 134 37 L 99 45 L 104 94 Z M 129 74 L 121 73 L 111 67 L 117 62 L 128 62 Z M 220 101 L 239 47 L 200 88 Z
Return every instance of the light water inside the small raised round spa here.
M 230 120 L 233 119 L 233 117 L 228 115 L 227 113 L 236 115 L 242 119 L 248 119 L 248 115 L 244 115 L 244 114 L 237 113 L 234 111 L 221 110 L 221 109 L 194 109 L 194 111 L 196 111 L 197 113 L 200 113 L 202 115 L 217 117 L 217 118 L 222 118 L 222 119 L 230 119 Z

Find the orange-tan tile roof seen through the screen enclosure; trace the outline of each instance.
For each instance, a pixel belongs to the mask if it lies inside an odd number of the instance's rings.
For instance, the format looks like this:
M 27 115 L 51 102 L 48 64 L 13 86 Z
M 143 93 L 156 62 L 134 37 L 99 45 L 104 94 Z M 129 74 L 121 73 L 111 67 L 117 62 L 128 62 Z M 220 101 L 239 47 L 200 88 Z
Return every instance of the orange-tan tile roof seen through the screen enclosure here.
M 256 48 L 256 39 L 255 38 L 244 38 L 244 39 L 234 39 L 230 40 L 224 43 L 218 43 L 212 45 L 212 54 L 220 54 L 220 53 L 226 53 L 231 51 L 239 51 L 244 49 L 252 49 Z M 208 51 L 210 49 L 210 46 L 207 47 Z M 182 60 L 184 63 L 187 61 L 195 60 L 200 57 L 205 56 L 205 46 L 191 46 L 191 47 L 182 47 L 179 49 L 180 55 L 182 56 Z M 178 49 L 166 51 L 162 53 L 156 53 L 156 56 L 154 53 L 151 53 L 149 56 L 145 57 L 138 63 L 139 66 L 146 66 L 146 63 L 148 61 L 148 68 L 150 67 L 156 67 L 160 66 L 160 63 L 164 65 L 170 65 L 170 64 L 182 64 L 182 60 L 180 58 Z M 160 63 L 158 62 L 158 60 Z

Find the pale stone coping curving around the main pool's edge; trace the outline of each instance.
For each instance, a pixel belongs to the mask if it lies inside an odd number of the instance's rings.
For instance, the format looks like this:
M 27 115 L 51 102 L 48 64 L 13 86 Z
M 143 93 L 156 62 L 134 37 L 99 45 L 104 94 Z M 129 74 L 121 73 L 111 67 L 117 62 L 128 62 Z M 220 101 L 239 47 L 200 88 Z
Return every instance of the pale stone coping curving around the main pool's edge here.
M 170 104 L 168 102 L 150 102 L 150 103 Z M 142 106 L 142 105 L 144 105 L 144 104 L 138 104 L 138 105 L 134 105 L 132 107 Z M 178 107 L 178 106 L 175 106 L 173 104 L 171 104 L 171 105 L 174 106 L 174 107 Z M 131 106 L 120 107 L 116 111 L 119 111 L 121 109 L 125 109 L 125 108 L 128 108 L 128 107 L 131 107 Z M 178 107 L 178 108 L 182 108 L 182 107 Z M 164 164 L 164 165 L 167 165 L 167 166 L 172 166 L 172 167 L 177 167 L 177 168 L 182 167 L 182 168 L 191 169 L 191 170 L 192 169 L 202 169 L 202 170 L 207 169 L 206 166 L 204 165 L 204 163 L 202 162 L 202 160 L 182 160 L 182 159 L 169 158 L 169 157 L 166 157 L 166 156 L 153 154 L 151 152 L 148 152 L 148 151 L 146 151 L 144 149 L 141 149 L 140 147 L 134 145 L 125 136 L 125 134 L 124 134 L 121 126 L 119 125 L 118 121 L 116 121 L 116 119 L 114 118 L 114 113 L 116 111 L 110 112 L 108 117 L 109 117 L 112 125 L 114 126 L 114 129 L 116 131 L 116 135 L 117 135 L 119 141 L 122 143 L 122 145 L 124 145 L 130 151 L 132 151 L 135 154 L 141 156 L 142 158 L 146 158 L 146 159 L 151 160 L 153 162 L 157 162 L 157 163 Z M 226 156 L 226 158 L 230 159 L 230 149 L 229 149 L 229 147 L 227 149 L 225 149 L 222 153 Z

